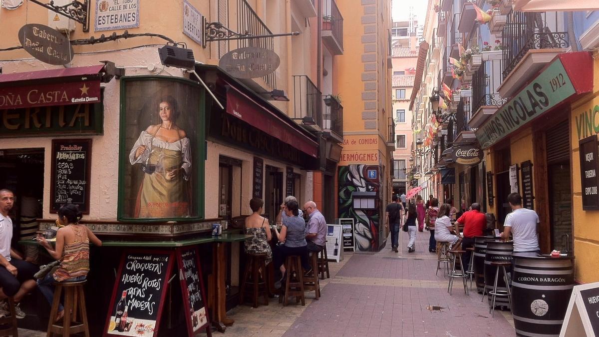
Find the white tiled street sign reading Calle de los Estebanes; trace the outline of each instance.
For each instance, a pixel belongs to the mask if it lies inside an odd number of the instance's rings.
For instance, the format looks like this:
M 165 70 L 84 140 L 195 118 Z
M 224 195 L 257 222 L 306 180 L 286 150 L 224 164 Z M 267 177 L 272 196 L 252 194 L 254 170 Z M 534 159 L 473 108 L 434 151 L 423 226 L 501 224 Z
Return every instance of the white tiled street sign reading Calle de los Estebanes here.
M 139 26 L 140 0 L 96 0 L 96 32 Z

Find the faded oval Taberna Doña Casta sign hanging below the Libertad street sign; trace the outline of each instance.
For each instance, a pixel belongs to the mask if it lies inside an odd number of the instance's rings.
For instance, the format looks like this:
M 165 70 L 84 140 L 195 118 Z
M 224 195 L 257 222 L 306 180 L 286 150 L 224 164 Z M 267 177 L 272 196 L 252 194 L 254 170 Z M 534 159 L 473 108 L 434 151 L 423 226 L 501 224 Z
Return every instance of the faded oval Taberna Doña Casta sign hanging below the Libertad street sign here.
M 267 76 L 279 68 L 281 59 L 272 50 L 260 47 L 243 47 L 220 58 L 219 67 L 238 79 L 255 79 Z

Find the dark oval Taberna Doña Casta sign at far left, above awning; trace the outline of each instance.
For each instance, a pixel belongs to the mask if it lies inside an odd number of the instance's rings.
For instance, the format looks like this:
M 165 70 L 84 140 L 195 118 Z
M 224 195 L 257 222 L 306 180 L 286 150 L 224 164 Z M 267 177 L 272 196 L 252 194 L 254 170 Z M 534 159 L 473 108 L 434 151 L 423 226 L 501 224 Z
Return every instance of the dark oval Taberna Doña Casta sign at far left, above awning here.
M 22 26 L 19 41 L 31 56 L 47 64 L 65 65 L 73 58 L 70 41 L 49 26 L 37 23 Z

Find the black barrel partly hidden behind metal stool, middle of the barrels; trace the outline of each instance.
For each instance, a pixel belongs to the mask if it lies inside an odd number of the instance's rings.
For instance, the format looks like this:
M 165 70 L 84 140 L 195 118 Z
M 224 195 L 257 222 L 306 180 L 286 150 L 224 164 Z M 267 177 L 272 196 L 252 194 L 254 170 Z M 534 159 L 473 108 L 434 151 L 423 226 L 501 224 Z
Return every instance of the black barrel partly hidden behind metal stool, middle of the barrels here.
M 513 243 L 508 241 L 505 242 L 503 240 L 487 240 L 485 241 L 487 244 L 486 254 L 485 254 L 485 288 L 486 292 L 493 290 L 493 284 L 495 282 L 495 270 L 497 267 L 492 266 L 491 262 L 501 261 L 501 262 L 512 262 L 512 251 L 513 251 Z M 506 272 L 510 273 L 512 271 L 511 267 L 506 267 Z M 500 276 L 497 280 L 497 290 L 507 290 L 506 282 L 503 281 L 503 275 Z M 488 296 L 489 306 L 492 305 L 491 296 Z M 495 306 L 504 306 L 506 308 L 510 308 L 509 300 L 507 297 L 497 296 L 495 297 Z

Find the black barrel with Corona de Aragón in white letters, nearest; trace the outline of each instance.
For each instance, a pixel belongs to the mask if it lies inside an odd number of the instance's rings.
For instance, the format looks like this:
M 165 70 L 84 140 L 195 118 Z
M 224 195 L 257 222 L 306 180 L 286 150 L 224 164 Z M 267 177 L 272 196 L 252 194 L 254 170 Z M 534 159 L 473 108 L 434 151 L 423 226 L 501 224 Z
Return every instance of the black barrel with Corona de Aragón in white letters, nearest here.
M 512 313 L 518 336 L 558 336 L 574 287 L 574 257 L 514 253 Z

